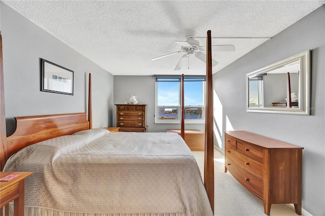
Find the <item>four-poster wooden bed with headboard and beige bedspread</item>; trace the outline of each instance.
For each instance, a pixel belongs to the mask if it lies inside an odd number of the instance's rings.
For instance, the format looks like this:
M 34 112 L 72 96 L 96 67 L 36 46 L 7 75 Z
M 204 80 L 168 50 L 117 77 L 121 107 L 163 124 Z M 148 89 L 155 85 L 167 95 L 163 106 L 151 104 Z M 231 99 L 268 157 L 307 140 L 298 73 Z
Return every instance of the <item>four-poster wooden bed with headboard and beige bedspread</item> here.
M 211 31 L 208 40 L 211 46 Z M 211 63 L 211 48 L 208 52 Z M 88 120 L 86 113 L 16 117 L 16 131 L 6 137 L 2 41 L 0 54 L 0 165 L 3 171 L 34 172 L 25 179 L 25 215 L 213 215 L 210 123 L 204 184 L 178 134 L 92 129 L 91 112 Z M 207 63 L 207 83 L 212 82 L 211 68 Z M 91 75 L 89 95 L 90 81 Z

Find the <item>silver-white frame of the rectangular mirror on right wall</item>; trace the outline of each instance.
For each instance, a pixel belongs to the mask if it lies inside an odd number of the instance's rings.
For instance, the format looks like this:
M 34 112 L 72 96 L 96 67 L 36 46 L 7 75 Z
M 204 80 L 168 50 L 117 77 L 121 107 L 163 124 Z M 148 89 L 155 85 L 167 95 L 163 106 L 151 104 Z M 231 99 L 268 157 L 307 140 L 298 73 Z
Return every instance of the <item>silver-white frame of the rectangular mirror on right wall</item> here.
M 249 107 L 249 78 L 282 67 L 291 62 L 300 60 L 299 75 L 299 107 Z M 310 50 L 270 64 L 246 75 L 246 112 L 310 115 Z

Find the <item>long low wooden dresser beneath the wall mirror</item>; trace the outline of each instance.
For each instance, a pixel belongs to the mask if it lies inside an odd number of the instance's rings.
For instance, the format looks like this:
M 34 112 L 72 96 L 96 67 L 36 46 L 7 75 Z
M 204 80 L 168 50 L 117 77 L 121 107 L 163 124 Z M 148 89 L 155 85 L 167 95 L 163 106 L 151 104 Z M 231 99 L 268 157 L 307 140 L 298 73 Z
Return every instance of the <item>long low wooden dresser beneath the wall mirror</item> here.
M 278 203 L 294 203 L 301 215 L 303 148 L 247 131 L 224 134 L 224 171 L 263 200 L 267 215 Z

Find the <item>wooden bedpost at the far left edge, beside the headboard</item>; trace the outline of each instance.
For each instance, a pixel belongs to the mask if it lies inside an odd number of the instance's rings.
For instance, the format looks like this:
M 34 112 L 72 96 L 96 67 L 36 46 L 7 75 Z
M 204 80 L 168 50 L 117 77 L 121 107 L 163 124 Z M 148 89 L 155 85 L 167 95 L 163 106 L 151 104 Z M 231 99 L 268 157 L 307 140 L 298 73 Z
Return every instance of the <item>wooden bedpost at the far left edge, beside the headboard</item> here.
M 2 35 L 0 31 L 0 170 L 4 169 L 7 161 L 7 145 L 6 145 L 6 114 L 5 114 L 5 84 L 4 84 L 4 61 L 2 54 Z

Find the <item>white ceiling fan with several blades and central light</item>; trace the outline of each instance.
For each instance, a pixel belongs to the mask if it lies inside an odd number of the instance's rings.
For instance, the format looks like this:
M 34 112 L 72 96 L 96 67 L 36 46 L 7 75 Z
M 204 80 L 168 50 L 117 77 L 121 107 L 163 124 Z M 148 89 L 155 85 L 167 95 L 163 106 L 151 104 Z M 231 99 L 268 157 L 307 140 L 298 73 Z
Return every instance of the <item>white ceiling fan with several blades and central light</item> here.
M 204 51 L 203 47 L 206 47 L 206 46 L 200 46 L 200 42 L 195 40 L 193 35 L 187 36 L 186 41 L 175 41 L 175 43 L 182 46 L 180 51 L 162 55 L 162 56 L 159 56 L 156 58 L 152 58 L 151 61 L 157 60 L 159 58 L 164 58 L 164 57 L 167 57 L 170 55 L 174 55 L 176 53 L 184 52 L 185 54 L 181 57 L 181 59 L 177 63 L 174 70 L 180 70 L 182 68 L 182 59 L 185 57 L 189 57 L 190 55 L 194 55 L 198 59 L 206 62 L 206 54 L 201 52 L 201 51 Z M 212 49 L 212 51 L 232 52 L 232 51 L 235 51 L 235 46 L 234 45 L 212 45 L 211 49 Z M 215 61 L 214 59 L 212 59 L 212 66 L 215 66 L 217 64 L 218 64 L 218 62 Z

